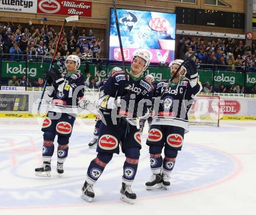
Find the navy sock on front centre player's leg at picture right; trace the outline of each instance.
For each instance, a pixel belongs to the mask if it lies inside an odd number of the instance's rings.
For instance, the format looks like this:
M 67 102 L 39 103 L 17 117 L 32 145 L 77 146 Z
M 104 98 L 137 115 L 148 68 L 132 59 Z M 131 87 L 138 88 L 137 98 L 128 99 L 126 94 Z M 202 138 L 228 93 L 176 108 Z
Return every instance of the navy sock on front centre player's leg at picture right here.
M 138 168 L 138 159 L 126 158 L 123 164 L 123 183 L 131 185 Z

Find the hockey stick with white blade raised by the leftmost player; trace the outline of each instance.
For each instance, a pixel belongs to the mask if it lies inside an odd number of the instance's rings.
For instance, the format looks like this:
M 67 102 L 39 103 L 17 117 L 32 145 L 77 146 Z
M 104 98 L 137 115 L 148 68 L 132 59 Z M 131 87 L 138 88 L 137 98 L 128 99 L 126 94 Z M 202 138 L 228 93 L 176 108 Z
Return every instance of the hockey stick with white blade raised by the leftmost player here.
M 48 71 L 51 70 L 52 65 L 54 64 L 55 56 L 58 52 L 58 46 L 59 46 L 59 42 L 61 41 L 61 35 L 62 35 L 63 30 L 64 30 L 65 24 L 69 23 L 70 21 L 77 21 L 77 20 L 79 20 L 79 16 L 69 16 L 69 17 L 66 17 L 66 19 L 63 21 L 61 31 L 59 32 L 58 41 L 57 41 L 56 46 L 55 46 L 54 56 L 52 56 L 52 61 L 51 61 L 51 64 L 49 65 L 49 70 Z M 42 104 L 42 98 L 44 97 L 44 92 L 45 92 L 45 89 L 46 89 L 46 85 L 47 85 L 47 79 L 44 80 L 44 88 L 42 89 L 41 97 L 40 97 L 38 107 L 37 107 L 37 112 L 40 111 L 40 107 L 41 107 L 41 104 Z

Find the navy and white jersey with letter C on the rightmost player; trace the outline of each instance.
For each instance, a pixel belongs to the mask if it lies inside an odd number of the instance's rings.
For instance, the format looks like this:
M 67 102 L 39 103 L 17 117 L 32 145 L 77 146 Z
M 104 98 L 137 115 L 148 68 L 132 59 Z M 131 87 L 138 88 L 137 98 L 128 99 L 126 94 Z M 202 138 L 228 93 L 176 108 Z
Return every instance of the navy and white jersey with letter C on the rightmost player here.
M 162 80 L 155 89 L 154 97 L 161 100 L 160 102 L 155 100 L 152 124 L 173 125 L 188 129 L 187 113 L 195 95 L 202 90 L 202 85 L 197 79 L 183 79 L 179 85 L 172 83 L 168 86 L 168 83 L 169 80 Z

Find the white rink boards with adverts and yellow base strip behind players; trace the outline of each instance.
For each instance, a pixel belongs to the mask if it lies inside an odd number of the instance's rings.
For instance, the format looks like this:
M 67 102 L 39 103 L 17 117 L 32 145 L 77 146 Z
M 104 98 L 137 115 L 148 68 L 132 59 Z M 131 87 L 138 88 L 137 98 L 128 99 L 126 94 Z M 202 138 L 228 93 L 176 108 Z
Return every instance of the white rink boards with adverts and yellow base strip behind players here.
M 1 91 L 0 117 L 1 118 L 38 118 L 47 113 L 51 98 L 44 95 L 40 114 L 37 114 L 38 99 L 41 92 L 33 91 Z M 97 114 L 98 91 L 86 89 L 84 97 L 79 103 L 77 118 L 92 119 Z M 220 102 L 222 120 L 256 120 L 256 98 L 254 97 L 221 97 Z M 205 116 L 204 119 L 210 119 Z

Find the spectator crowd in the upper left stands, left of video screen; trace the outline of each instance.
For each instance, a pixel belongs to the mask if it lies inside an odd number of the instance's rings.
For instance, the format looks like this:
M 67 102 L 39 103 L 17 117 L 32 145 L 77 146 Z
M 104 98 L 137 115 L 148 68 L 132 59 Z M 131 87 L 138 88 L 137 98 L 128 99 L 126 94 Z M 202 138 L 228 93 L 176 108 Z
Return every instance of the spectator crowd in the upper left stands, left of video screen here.
M 0 24 L 0 53 L 9 60 L 24 60 L 27 56 L 29 60 L 40 61 L 42 56 L 54 55 L 58 34 L 54 27 L 44 24 L 41 28 L 35 28 L 31 22 L 26 27 Z M 87 32 L 73 26 L 69 31 L 63 31 L 57 56 L 75 54 L 85 59 L 93 58 L 99 56 L 102 41 L 95 37 L 93 30 Z

